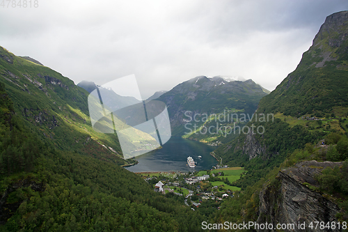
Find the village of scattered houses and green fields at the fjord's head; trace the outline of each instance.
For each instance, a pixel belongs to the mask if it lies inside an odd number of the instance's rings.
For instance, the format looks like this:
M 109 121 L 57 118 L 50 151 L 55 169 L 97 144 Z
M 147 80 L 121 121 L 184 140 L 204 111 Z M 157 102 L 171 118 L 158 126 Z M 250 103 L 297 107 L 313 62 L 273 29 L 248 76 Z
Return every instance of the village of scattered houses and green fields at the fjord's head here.
M 240 191 L 240 188 L 232 183 L 244 174 L 245 171 L 241 167 L 218 167 L 193 173 L 157 172 L 141 173 L 141 176 L 152 185 L 155 192 L 180 197 L 192 210 L 219 210 L 221 201 L 233 197 L 236 191 Z

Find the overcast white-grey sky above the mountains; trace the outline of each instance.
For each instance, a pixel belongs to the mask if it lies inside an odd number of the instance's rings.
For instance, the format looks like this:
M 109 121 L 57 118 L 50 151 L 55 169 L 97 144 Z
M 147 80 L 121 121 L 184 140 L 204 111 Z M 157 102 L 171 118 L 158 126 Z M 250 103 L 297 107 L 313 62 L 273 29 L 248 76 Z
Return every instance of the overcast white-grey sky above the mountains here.
M 326 16 L 348 10 L 347 0 L 11 4 L 0 6 L 1 47 L 75 84 L 134 74 L 143 98 L 198 75 L 244 77 L 272 91 L 296 68 Z

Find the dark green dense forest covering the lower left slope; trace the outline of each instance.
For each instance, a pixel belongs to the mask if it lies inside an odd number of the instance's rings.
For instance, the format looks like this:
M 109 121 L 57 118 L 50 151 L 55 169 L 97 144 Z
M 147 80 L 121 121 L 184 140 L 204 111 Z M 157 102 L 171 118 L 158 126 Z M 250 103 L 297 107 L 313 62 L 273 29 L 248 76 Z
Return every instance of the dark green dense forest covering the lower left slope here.
M 47 146 L 1 83 L 1 231 L 197 231 L 205 219 L 112 162 Z

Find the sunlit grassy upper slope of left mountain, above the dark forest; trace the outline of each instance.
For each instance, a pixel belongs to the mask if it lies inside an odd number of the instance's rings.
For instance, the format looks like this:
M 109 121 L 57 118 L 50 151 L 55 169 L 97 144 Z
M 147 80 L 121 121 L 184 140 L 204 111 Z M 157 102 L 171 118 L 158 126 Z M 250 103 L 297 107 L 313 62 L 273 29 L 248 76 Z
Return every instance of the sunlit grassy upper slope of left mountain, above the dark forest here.
M 0 47 L 0 80 L 6 84 L 17 115 L 47 146 L 117 164 L 129 163 L 122 159 L 114 134 L 93 130 L 88 92 L 67 77 Z

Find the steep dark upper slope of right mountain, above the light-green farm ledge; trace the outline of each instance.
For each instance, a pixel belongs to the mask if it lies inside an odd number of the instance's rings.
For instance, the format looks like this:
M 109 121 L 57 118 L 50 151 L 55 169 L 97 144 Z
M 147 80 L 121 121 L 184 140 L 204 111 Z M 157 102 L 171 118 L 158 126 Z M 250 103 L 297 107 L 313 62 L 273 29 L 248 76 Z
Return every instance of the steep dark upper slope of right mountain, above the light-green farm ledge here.
M 260 100 L 259 111 L 320 117 L 335 106 L 347 107 L 347 24 L 347 11 L 327 17 L 296 70 Z

